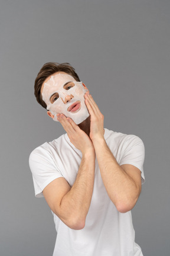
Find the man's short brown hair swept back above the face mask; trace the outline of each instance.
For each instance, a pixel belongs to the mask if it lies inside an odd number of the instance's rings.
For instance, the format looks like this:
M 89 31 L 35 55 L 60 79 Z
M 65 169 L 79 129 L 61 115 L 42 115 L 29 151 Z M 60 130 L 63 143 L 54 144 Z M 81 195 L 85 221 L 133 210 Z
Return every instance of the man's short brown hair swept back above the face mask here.
M 37 98 L 37 101 L 42 107 L 47 108 L 47 104 L 42 100 L 41 95 L 41 87 L 45 79 L 48 78 L 48 76 L 53 75 L 53 73 L 56 73 L 58 71 L 66 72 L 68 75 L 73 76 L 73 78 L 80 82 L 80 78 L 77 75 L 75 69 L 70 65 L 70 63 L 57 63 L 57 62 L 47 62 L 45 63 L 42 68 L 40 69 L 40 72 L 37 75 L 37 78 L 35 78 L 35 84 L 34 84 L 34 94 Z

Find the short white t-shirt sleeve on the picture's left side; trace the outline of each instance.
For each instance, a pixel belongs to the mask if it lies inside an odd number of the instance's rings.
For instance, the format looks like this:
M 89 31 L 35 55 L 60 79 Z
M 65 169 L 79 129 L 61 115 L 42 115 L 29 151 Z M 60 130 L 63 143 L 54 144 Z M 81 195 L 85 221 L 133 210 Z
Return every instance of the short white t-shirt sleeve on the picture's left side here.
M 50 152 L 41 147 L 34 149 L 29 158 L 35 197 L 44 197 L 42 191 L 56 178 L 63 177 Z

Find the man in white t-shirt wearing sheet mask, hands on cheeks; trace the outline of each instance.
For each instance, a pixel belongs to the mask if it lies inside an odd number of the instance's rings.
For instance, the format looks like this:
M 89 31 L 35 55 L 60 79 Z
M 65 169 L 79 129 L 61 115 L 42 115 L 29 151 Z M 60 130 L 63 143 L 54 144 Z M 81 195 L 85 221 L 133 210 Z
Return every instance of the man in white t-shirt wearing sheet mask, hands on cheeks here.
M 66 130 L 30 155 L 35 196 L 54 215 L 53 256 L 142 256 L 130 212 L 145 180 L 142 140 L 103 128 L 103 114 L 68 63 L 42 66 L 35 96 Z

